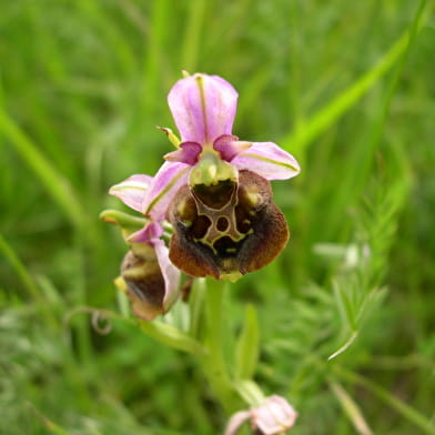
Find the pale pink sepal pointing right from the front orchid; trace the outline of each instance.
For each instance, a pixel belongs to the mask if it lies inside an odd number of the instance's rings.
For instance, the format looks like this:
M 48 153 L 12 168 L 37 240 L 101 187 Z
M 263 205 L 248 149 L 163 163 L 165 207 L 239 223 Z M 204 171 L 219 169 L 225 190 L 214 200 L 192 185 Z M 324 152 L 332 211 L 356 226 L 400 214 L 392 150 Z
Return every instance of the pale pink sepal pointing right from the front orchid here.
M 252 145 L 237 154 L 231 163 L 239 170 L 247 169 L 267 180 L 286 180 L 297 175 L 296 159 L 273 142 L 250 142 Z

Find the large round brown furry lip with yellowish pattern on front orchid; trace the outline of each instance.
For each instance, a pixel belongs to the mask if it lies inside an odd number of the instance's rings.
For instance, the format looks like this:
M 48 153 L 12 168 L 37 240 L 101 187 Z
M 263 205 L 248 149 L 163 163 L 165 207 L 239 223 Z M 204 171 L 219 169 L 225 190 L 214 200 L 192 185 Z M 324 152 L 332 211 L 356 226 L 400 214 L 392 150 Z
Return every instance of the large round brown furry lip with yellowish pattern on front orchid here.
M 192 276 L 236 281 L 274 260 L 290 235 L 270 182 L 246 170 L 237 182 L 181 188 L 168 220 L 170 259 Z

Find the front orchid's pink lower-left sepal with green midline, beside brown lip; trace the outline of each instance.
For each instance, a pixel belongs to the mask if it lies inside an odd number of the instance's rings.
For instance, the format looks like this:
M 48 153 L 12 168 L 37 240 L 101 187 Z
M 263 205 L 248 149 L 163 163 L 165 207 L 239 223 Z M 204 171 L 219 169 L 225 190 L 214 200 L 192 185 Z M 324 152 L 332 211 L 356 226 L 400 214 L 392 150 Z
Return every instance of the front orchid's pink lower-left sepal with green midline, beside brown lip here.
M 190 165 L 179 162 L 165 162 L 152 180 L 142 212 L 154 221 L 164 219 L 168 205 L 178 190 L 188 183 Z

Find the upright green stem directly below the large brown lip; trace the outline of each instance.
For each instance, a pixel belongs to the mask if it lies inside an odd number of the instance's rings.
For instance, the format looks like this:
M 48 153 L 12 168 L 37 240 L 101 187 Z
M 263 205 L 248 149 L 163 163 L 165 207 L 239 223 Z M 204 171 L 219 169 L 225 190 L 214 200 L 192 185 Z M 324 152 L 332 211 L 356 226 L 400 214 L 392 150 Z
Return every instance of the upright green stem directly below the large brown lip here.
M 230 381 L 223 354 L 223 297 L 226 284 L 208 279 L 205 294 L 206 334 L 204 346 L 206 355 L 201 358 L 210 385 L 225 408 L 231 413 L 239 407 L 236 392 Z

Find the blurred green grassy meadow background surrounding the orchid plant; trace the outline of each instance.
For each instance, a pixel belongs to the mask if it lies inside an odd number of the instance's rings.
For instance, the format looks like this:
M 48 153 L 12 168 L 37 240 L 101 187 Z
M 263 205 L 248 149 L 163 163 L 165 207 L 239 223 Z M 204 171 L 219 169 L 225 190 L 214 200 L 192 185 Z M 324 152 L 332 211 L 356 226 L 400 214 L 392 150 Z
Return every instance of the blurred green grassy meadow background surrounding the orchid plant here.
M 226 301 L 233 332 L 259 310 L 256 381 L 296 407 L 292 433 L 435 434 L 433 9 L 1 0 L 0 433 L 222 433 L 189 355 L 74 314 L 119 311 L 125 245 L 98 215 L 171 151 L 155 125 L 185 69 L 233 83 L 234 133 L 302 164 L 273 183 L 289 246 Z

